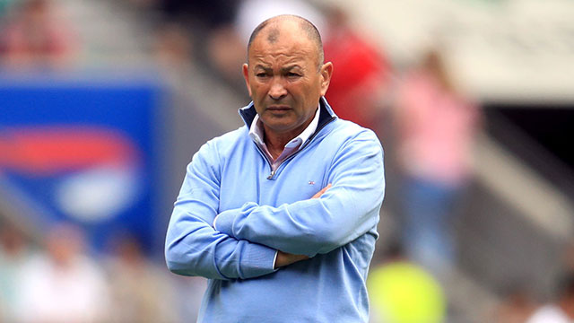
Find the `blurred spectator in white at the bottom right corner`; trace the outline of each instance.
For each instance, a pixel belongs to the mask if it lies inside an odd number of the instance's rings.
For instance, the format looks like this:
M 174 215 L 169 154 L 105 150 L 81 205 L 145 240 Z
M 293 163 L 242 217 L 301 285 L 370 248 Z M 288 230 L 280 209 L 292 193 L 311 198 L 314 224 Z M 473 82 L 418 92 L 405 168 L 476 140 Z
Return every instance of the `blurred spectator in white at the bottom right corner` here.
M 526 323 L 570 323 L 574 321 L 574 272 L 570 271 L 558 284 L 557 299 L 545 304 Z

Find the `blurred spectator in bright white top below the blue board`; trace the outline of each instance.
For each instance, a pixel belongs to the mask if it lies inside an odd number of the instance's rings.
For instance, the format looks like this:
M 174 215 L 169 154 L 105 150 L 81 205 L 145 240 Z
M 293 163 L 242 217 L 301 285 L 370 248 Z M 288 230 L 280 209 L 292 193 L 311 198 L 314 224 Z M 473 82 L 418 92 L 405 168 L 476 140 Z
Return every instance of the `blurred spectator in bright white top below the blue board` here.
M 58 224 L 48 231 L 46 248 L 47 254 L 22 268 L 17 321 L 107 321 L 105 278 L 83 254 L 83 233 L 70 224 Z

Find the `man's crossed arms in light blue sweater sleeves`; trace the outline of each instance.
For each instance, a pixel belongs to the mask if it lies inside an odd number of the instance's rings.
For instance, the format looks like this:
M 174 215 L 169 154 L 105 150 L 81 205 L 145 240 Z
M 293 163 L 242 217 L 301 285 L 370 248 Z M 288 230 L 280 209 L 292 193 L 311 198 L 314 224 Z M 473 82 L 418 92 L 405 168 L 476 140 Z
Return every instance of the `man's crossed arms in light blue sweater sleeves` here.
M 212 279 L 267 275 L 276 270 L 275 254 L 276 266 L 312 258 L 344 246 L 378 223 L 383 156 L 370 132 L 339 149 L 327 174 L 331 188 L 277 207 L 246 201 L 220 213 L 221 170 L 214 152 L 212 141 L 196 153 L 175 203 L 165 249 L 174 273 Z

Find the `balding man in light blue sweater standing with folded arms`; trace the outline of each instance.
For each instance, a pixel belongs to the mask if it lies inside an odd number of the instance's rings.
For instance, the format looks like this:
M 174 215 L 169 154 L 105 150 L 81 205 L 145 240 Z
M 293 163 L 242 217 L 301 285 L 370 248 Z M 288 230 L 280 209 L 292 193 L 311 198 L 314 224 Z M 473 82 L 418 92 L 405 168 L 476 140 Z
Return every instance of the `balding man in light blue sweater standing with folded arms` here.
M 194 155 L 167 234 L 170 270 L 209 278 L 198 321 L 368 321 L 383 152 L 336 118 L 323 97 L 332 73 L 303 18 L 251 35 L 246 126 Z

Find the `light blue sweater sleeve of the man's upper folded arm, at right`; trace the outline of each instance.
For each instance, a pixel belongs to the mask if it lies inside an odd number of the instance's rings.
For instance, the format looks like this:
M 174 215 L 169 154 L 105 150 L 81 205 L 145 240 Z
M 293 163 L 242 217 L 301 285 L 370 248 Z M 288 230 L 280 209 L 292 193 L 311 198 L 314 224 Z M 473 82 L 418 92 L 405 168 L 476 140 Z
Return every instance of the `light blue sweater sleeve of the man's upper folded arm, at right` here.
M 385 192 L 383 150 L 363 131 L 345 143 L 328 173 L 332 187 L 315 199 L 273 207 L 246 203 L 219 214 L 218 231 L 292 254 L 327 253 L 378 223 Z

